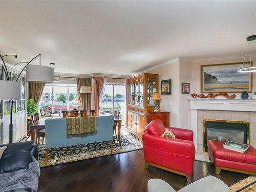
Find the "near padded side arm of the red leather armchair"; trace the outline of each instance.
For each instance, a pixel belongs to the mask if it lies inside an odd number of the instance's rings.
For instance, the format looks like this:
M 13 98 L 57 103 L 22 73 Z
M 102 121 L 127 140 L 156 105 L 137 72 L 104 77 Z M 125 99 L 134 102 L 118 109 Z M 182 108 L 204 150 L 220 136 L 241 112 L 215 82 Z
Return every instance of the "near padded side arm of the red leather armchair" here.
M 195 145 L 193 141 L 172 139 L 157 135 L 142 134 L 143 146 L 154 148 L 154 150 L 176 154 L 184 157 L 195 158 Z

